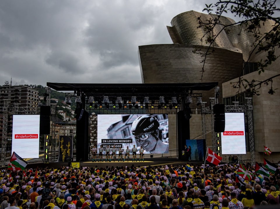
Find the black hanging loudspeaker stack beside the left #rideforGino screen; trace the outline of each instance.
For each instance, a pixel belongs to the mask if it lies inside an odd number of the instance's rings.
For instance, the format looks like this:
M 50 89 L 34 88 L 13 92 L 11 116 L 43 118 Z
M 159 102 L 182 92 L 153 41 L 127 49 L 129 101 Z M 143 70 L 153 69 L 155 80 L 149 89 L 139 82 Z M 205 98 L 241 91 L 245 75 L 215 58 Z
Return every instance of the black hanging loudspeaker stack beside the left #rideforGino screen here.
M 40 134 L 50 134 L 50 106 L 40 107 Z

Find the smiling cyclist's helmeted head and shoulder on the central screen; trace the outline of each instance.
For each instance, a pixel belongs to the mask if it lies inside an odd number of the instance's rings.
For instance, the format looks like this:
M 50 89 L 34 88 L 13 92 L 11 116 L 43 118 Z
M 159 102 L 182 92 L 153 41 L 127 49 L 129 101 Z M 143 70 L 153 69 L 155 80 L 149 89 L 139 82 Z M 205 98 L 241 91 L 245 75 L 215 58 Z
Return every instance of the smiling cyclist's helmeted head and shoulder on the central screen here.
M 169 144 L 162 142 L 160 123 L 153 115 L 137 117 L 131 126 L 135 140 L 150 153 L 168 153 Z

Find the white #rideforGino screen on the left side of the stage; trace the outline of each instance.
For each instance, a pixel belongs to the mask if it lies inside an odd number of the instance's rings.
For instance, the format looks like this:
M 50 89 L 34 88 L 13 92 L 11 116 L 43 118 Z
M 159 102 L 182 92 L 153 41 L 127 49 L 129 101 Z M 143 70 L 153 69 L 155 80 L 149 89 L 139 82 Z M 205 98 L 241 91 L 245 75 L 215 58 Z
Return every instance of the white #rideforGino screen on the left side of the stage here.
M 12 153 L 39 158 L 40 115 L 13 115 Z

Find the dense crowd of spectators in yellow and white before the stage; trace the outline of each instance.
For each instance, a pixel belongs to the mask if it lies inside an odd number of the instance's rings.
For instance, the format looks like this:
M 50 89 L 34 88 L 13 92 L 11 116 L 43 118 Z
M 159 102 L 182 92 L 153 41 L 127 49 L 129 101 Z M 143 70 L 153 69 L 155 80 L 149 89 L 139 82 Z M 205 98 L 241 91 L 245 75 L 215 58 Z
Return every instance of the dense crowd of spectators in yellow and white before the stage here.
M 243 209 L 279 205 L 279 174 L 233 165 L 60 167 L 1 171 L 0 209 Z M 247 165 L 253 172 L 253 167 Z M 280 206 L 279 206 L 280 207 Z

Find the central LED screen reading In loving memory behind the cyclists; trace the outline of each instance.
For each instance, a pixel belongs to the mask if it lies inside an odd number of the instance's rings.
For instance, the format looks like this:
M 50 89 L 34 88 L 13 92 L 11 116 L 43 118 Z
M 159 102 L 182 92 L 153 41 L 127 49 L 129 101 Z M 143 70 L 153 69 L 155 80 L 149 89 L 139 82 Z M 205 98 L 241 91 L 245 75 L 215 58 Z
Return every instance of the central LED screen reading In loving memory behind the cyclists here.
M 131 114 L 131 115 L 98 115 L 97 120 L 97 149 L 108 146 L 123 153 L 127 147 L 132 153 L 135 145 L 145 153 L 168 153 L 168 115 L 167 114 Z M 110 150 L 111 153 L 112 150 Z

